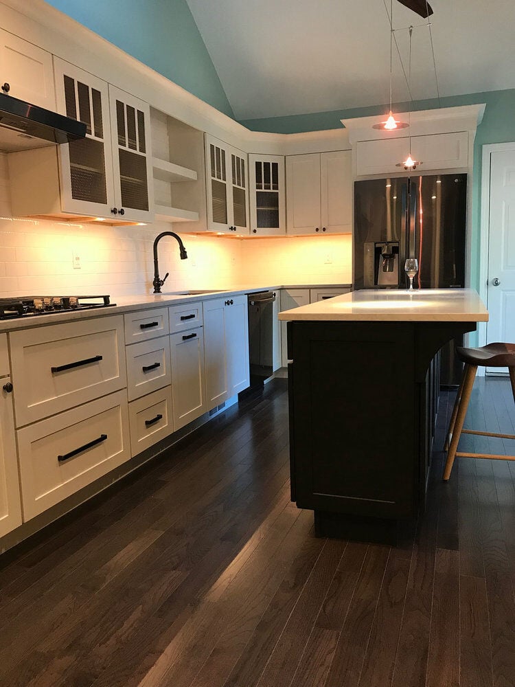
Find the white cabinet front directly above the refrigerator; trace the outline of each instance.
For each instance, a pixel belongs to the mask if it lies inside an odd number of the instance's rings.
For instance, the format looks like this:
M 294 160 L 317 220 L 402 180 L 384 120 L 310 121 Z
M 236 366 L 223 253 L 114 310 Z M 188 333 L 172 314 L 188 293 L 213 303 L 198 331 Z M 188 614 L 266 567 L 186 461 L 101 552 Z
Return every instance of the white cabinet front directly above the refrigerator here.
M 408 138 L 356 143 L 356 176 L 405 174 L 397 164 L 409 153 Z M 468 131 L 411 137 L 411 157 L 422 161 L 420 170 L 461 169 L 468 166 Z M 418 173 L 418 169 L 417 169 Z

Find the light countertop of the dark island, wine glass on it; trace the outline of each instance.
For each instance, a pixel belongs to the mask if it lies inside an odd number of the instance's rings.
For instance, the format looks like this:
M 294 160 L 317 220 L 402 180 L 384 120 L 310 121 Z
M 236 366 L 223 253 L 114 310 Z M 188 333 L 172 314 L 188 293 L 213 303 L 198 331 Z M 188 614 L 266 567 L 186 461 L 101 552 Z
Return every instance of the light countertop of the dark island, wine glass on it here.
M 364 289 L 279 313 L 294 322 L 487 322 L 474 289 Z

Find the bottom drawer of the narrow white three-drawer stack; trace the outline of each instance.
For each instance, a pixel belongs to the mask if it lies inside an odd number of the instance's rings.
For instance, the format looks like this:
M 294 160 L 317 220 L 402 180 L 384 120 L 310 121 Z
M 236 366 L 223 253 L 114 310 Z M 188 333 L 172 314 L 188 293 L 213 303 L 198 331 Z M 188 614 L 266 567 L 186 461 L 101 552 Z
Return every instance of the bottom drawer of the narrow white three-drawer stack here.
M 155 391 L 129 403 L 130 448 L 137 455 L 174 431 L 172 390 Z

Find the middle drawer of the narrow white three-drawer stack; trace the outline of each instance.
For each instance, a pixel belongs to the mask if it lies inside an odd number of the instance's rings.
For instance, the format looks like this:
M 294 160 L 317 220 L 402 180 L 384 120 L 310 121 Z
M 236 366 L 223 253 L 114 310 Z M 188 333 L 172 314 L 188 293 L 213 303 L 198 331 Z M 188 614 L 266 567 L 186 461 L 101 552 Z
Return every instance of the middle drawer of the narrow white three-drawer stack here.
M 170 338 L 161 337 L 127 346 L 129 401 L 170 384 Z

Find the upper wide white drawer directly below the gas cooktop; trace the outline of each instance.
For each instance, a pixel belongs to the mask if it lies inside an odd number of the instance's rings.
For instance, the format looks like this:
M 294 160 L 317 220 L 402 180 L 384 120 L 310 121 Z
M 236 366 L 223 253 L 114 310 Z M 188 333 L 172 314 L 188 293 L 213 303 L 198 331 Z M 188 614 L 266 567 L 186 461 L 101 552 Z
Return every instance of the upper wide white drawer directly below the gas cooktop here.
M 9 335 L 16 427 L 126 386 L 122 315 Z

